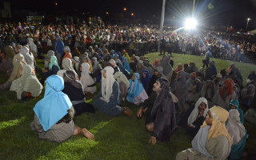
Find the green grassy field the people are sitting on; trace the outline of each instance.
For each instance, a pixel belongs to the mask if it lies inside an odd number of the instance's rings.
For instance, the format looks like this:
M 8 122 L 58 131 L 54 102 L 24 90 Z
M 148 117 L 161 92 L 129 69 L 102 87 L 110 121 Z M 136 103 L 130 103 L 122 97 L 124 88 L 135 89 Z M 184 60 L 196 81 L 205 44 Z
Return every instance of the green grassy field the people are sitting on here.
M 174 67 L 178 62 L 195 62 L 202 66 L 202 57 L 173 54 Z M 150 62 L 160 58 L 158 53 L 147 54 Z M 219 70 L 227 68 L 230 61 L 215 59 Z M 244 81 L 251 70 L 256 66 L 234 62 L 241 70 Z M 43 61 L 38 60 L 38 66 Z M 0 73 L 0 84 L 6 82 L 6 75 Z M 192 137 L 186 135 L 183 128 L 175 130 L 170 142 L 157 142 L 155 146 L 148 144 L 150 133 L 144 129 L 145 119 L 138 120 L 135 115 L 131 118 L 125 116 L 108 117 L 96 114 L 82 114 L 74 119 L 76 125 L 86 127 L 95 136 L 94 141 L 74 136 L 62 142 L 46 142 L 38 138 L 30 129 L 33 121 L 33 107 L 43 94 L 37 99 L 22 102 L 17 100 L 16 94 L 9 90 L 0 91 L 0 159 L 175 159 L 175 155 L 191 146 Z M 138 106 L 125 103 L 136 114 Z M 245 122 L 250 134 L 246 141 L 246 150 L 254 152 L 256 149 L 255 126 Z

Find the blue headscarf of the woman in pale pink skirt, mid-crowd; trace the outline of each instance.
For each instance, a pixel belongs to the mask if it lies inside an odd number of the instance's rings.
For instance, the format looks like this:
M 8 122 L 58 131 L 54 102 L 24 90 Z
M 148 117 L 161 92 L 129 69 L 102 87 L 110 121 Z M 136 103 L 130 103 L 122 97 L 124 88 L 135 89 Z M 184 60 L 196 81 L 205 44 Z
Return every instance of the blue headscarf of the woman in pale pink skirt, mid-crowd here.
M 137 97 L 139 94 L 141 94 L 142 91 L 144 90 L 142 83 L 138 81 L 139 74 L 134 73 L 133 76 L 135 77 L 134 78 L 134 88 L 131 91 L 131 93 L 130 93 L 130 90 L 131 90 L 131 86 L 132 86 L 132 80 L 129 79 L 130 86 L 129 86 L 128 95 L 127 95 L 127 98 L 129 98 L 129 102 L 134 102 L 134 98 Z

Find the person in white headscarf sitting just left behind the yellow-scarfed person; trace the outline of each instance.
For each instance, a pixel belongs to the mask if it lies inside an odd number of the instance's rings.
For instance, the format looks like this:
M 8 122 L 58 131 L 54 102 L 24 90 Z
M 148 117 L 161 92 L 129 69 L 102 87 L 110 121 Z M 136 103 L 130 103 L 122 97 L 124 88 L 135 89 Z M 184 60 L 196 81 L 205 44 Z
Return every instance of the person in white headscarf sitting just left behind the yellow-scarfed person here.
M 186 133 L 194 137 L 198 134 L 198 130 L 202 123 L 205 121 L 206 114 L 208 112 L 208 102 L 206 98 L 199 98 L 198 102 L 194 105 L 189 118 L 187 119 Z

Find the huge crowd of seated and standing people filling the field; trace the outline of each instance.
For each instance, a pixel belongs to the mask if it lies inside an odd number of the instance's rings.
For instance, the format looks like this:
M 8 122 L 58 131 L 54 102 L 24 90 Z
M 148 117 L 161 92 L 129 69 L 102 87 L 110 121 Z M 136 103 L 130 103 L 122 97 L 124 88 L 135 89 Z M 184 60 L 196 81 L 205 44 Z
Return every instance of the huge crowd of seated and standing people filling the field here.
M 256 74 L 251 72 L 243 86 L 242 75 L 234 63 L 218 73 L 209 58 L 218 53 L 210 50 L 218 45 L 222 48 L 214 33 L 206 38 L 207 46 L 212 48 L 202 52 L 204 70 L 198 69 L 200 64 L 194 62 L 178 63 L 173 68 L 174 48 L 165 54 L 166 42 L 178 42 L 182 52 L 194 54 L 195 46 L 201 46 L 199 37 L 187 39 L 184 33 L 167 31 L 167 41 L 162 40 L 162 59 L 155 58 L 150 63 L 146 56 L 138 54 L 136 43 L 158 42 L 157 28 L 38 26 L 32 31 L 25 28 L 20 23 L 9 28 L 2 26 L 2 34 L 6 32 L 7 38 L 0 70 L 9 79 L 0 90 L 15 91 L 18 99 L 28 101 L 38 98 L 45 85 L 44 97 L 34 106 L 34 121 L 30 124 L 39 138 L 63 142 L 72 135 L 82 134 L 94 139 L 86 128 L 74 125 L 74 116 L 98 110 L 109 116 L 131 117 L 131 110 L 124 104 L 132 103 L 138 106 L 137 118 L 145 115 L 150 144 L 155 145 L 157 139 L 170 141 L 178 126 L 194 137 L 192 148 L 178 153 L 176 159 L 242 156 L 248 138 L 244 119 L 256 125 Z M 114 41 L 117 43 L 111 43 Z M 222 49 L 232 46 L 230 42 Z M 252 43 L 242 46 L 233 42 L 235 50 L 254 47 L 250 46 Z M 43 70 L 36 64 L 37 58 L 44 59 Z M 86 98 L 93 98 L 93 102 L 86 103 Z M 241 106 L 249 109 L 245 115 Z

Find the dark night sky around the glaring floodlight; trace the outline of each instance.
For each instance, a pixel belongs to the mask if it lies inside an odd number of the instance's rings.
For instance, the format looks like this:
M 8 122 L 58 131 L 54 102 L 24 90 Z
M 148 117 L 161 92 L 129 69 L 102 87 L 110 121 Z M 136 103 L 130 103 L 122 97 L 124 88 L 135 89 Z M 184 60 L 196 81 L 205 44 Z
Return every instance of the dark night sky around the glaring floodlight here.
M 33 10 L 38 13 L 73 14 L 90 13 L 102 15 L 106 11 L 110 15 L 122 14 L 126 7 L 126 16 L 135 14 L 135 18 L 153 19 L 161 17 L 162 0 L 9 0 L 14 9 Z M 58 6 L 54 3 L 58 2 Z M 166 24 L 179 24 L 191 14 L 193 0 L 166 0 Z M 250 17 L 249 28 L 256 28 L 256 0 L 196 0 L 198 19 L 205 24 L 223 24 L 234 27 L 245 27 L 246 18 Z M 175 18 L 173 18 L 175 17 Z M 255 19 L 254 19 L 255 18 Z

